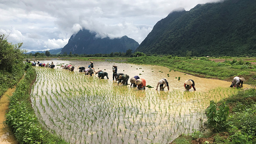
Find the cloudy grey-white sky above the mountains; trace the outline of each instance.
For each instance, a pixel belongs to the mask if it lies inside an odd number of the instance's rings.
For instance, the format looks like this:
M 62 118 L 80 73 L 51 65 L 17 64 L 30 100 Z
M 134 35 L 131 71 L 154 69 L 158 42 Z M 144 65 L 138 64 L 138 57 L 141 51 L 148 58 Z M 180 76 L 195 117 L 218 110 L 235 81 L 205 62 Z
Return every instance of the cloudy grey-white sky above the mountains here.
M 0 0 L 0 34 L 23 49 L 64 47 L 86 28 L 99 37 L 128 36 L 139 44 L 171 11 L 219 0 Z

